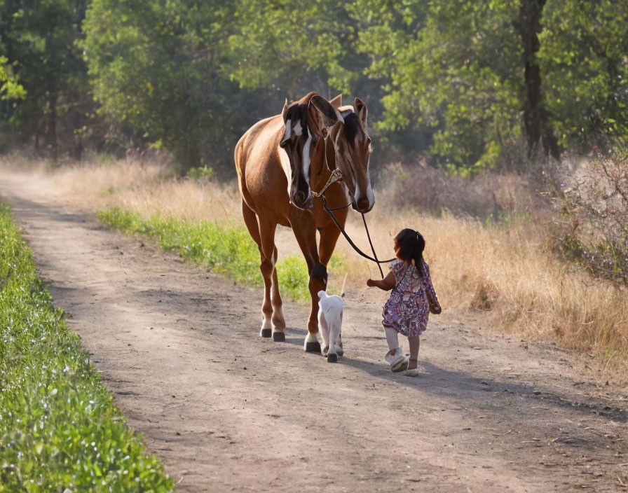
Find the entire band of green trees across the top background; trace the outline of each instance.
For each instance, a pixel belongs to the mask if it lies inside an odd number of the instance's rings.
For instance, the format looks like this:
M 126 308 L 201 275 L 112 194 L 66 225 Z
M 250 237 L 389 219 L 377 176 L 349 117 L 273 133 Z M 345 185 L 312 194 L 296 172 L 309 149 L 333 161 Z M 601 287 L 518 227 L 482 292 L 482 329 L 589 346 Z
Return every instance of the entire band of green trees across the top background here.
M 538 141 L 555 157 L 628 135 L 628 10 L 613 0 L 86 6 L 0 0 L 0 55 L 27 93 L 0 105 L 10 127 L 50 141 L 73 115 L 80 140 L 94 97 L 110 138 L 219 173 L 248 127 L 310 90 L 367 102 L 374 164 L 477 174 L 526 165 Z

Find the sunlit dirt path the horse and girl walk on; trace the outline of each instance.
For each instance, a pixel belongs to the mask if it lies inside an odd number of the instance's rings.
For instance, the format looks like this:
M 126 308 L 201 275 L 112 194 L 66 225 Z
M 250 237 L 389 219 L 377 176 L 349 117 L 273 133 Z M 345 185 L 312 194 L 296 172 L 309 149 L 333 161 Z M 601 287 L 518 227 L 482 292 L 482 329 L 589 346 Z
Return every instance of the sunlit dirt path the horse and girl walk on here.
M 385 294 L 348 296 L 338 364 L 261 340 L 261 292 L 182 264 L 71 210 L 45 179 L 0 172 L 0 196 L 69 326 L 179 492 L 617 492 L 626 389 L 552 345 L 453 314 L 421 342 L 429 375 L 392 374 Z M 407 347 L 407 342 L 405 342 Z

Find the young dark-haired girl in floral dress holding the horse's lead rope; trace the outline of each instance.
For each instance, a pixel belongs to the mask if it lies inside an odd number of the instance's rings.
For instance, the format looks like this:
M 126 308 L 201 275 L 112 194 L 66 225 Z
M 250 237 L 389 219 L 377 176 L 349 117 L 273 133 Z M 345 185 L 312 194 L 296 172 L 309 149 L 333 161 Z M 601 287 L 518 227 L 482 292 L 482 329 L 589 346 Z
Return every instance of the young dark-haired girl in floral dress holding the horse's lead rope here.
M 425 331 L 429 312 L 441 312 L 430 269 L 423 260 L 424 249 L 425 239 L 421 233 L 409 228 L 401 230 L 395 237 L 395 256 L 398 260 L 390 265 L 390 272 L 381 281 L 367 281 L 367 286 L 376 286 L 384 291 L 392 289 L 382 313 L 382 324 L 390 349 L 385 360 L 390 363 L 392 371 L 407 368 L 406 375 L 410 377 L 420 373 L 417 368 L 419 335 Z M 400 333 L 408 338 L 409 361 L 399 346 Z

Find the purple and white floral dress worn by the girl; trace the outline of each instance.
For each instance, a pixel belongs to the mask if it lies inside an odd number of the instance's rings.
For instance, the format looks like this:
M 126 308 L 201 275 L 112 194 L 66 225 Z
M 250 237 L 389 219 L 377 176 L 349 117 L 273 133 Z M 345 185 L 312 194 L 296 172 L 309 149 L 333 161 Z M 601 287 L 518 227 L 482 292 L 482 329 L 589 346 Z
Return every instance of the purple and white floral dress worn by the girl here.
M 430 268 L 423 261 L 424 277 L 410 262 L 396 261 L 389 268 L 397 284 L 384 305 L 382 324 L 406 337 L 421 335 L 427 328 L 430 308 L 431 311 L 440 308 L 432 286 Z

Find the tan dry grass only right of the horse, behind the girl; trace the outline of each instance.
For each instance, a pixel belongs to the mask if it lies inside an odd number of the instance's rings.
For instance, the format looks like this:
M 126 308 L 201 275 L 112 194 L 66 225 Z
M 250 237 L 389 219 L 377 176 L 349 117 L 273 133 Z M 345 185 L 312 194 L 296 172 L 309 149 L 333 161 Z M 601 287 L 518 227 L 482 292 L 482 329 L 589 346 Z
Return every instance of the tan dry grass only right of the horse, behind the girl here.
M 383 198 L 369 216 L 376 249 L 390 256 L 399 230 L 421 231 L 442 305 L 485 312 L 499 331 L 591 352 L 609 369 L 625 367 L 627 290 L 559 261 L 547 249 L 545 225 L 523 220 L 484 225 L 411 211 L 389 215 L 384 211 L 394 209 L 382 204 Z

